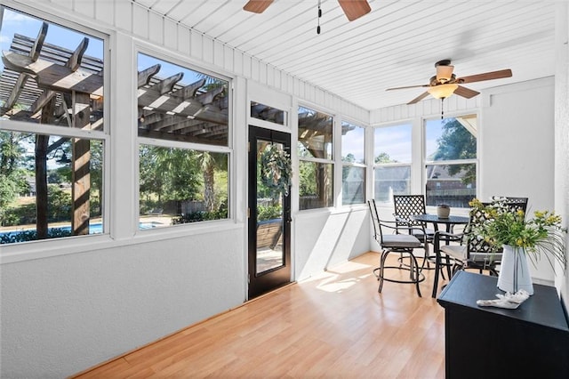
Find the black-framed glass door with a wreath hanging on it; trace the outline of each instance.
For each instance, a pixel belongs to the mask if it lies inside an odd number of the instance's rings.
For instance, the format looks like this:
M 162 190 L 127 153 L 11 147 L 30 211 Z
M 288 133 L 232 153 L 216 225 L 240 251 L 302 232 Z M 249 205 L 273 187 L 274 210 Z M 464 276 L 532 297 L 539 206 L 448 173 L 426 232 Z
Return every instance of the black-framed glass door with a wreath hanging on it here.
M 291 282 L 291 135 L 249 127 L 249 299 Z M 284 160 L 279 160 L 283 158 Z

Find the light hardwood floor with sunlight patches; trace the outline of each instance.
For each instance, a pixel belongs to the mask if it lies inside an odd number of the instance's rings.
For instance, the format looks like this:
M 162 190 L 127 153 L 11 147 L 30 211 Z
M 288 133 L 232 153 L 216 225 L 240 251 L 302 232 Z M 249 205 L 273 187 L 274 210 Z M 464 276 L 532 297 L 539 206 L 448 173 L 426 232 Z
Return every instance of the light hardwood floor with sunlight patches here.
M 368 253 L 77 378 L 444 378 L 444 310 L 414 286 L 378 294 Z

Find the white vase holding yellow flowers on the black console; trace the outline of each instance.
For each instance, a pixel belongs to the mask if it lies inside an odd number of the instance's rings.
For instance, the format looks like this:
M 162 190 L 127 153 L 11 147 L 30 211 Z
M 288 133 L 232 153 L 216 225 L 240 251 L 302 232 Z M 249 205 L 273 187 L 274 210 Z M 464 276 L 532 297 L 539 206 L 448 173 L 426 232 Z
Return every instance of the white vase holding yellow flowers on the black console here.
M 504 245 L 503 248 L 498 288 L 512 294 L 525 289 L 529 294 L 533 294 L 532 277 L 524 250 L 521 247 L 509 245 Z

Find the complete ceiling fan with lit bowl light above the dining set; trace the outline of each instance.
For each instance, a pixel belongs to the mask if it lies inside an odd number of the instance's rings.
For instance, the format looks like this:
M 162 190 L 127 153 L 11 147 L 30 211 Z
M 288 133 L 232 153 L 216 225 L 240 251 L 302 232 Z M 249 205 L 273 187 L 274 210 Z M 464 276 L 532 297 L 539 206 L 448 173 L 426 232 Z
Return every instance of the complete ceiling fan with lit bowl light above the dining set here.
M 437 75 L 431 77 L 428 85 L 409 85 L 406 87 L 388 88 L 386 91 L 401 90 L 405 88 L 427 87 L 425 93 L 409 101 L 407 104 L 414 104 L 429 96 L 436 99 L 446 99 L 453 93 L 459 96 L 470 99 L 476 96 L 479 92 L 471 90 L 462 86 L 464 83 L 482 82 L 483 80 L 501 79 L 502 77 L 511 77 L 511 69 L 501 69 L 499 71 L 485 72 L 484 74 L 471 75 L 469 77 L 456 77 L 453 74 L 454 66 L 451 65 L 451 60 L 439 60 L 435 63 L 437 68 Z

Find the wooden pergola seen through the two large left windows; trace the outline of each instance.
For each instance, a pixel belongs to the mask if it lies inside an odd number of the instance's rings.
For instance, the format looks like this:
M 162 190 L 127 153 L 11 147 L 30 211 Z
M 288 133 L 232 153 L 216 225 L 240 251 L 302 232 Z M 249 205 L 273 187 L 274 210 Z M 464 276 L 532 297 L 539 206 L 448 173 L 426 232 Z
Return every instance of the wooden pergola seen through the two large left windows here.
M 49 25 L 36 38 L 16 34 L 2 53 L 0 117 L 42 125 L 103 130 L 103 60 L 84 55 L 89 38 L 74 51 L 46 44 Z M 181 85 L 183 73 L 161 79 L 160 65 L 138 73 L 138 131 L 141 137 L 228 145 L 227 85 L 205 85 L 205 77 Z M 36 134 L 36 232 L 47 238 L 47 157 L 72 146 L 72 233 L 89 233 L 90 140 Z

